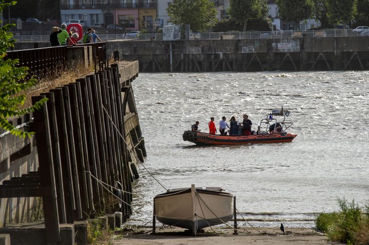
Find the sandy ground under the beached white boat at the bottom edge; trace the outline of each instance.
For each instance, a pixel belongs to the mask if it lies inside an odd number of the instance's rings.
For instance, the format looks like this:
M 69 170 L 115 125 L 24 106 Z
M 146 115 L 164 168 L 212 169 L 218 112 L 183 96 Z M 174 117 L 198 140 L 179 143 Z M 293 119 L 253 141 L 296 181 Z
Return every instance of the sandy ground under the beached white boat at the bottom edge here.
M 239 227 L 239 234 L 233 235 L 233 230 L 224 230 L 220 228 L 214 229 L 217 234 L 210 228 L 204 229 L 204 233 L 198 234 L 196 237 L 184 232 L 183 229 L 165 229 L 157 230 L 155 235 L 150 234 L 150 228 L 139 229 L 136 232 L 141 234 L 133 234 L 130 231 L 122 231 L 117 233 L 112 240 L 114 245 L 122 244 L 341 244 L 328 241 L 327 237 L 312 229 L 291 228 L 286 229 L 283 234 L 279 228 L 253 228 Z

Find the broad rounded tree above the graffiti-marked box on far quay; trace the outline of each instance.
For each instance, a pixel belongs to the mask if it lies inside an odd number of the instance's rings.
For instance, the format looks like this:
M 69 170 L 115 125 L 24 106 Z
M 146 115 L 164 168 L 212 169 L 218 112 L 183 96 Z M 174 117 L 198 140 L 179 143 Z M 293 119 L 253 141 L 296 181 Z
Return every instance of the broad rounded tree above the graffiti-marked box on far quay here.
M 206 31 L 217 22 L 217 11 L 209 0 L 174 0 L 167 11 L 170 22 L 190 25 L 193 31 Z

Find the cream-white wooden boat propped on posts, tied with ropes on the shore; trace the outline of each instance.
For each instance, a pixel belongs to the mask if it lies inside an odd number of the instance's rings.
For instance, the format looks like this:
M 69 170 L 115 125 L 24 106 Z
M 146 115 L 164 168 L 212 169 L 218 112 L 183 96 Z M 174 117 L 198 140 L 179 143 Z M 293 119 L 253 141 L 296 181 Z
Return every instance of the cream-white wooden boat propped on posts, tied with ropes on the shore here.
M 194 236 L 199 229 L 226 224 L 235 215 L 235 198 L 218 187 L 202 189 L 195 185 L 156 195 L 153 233 L 155 218 L 162 224 L 189 229 Z

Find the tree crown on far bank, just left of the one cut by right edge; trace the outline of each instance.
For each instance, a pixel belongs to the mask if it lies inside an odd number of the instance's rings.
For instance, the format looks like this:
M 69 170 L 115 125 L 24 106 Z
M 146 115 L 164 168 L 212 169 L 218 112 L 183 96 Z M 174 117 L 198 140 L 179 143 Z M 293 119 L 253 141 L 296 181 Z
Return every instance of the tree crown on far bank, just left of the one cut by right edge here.
M 361 1 L 361 0 L 360 0 Z M 350 23 L 357 13 L 357 0 L 326 0 L 327 15 L 332 25 Z

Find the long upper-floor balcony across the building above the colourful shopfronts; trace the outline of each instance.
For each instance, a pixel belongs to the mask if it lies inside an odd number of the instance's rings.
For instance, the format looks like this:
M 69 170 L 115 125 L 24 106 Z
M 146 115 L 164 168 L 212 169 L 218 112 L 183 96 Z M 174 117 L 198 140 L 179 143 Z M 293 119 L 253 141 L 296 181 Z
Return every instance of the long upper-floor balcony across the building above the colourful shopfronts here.
M 139 1 L 138 3 L 110 3 L 110 4 L 61 4 L 60 9 L 153 9 L 156 1 Z

